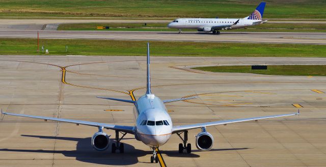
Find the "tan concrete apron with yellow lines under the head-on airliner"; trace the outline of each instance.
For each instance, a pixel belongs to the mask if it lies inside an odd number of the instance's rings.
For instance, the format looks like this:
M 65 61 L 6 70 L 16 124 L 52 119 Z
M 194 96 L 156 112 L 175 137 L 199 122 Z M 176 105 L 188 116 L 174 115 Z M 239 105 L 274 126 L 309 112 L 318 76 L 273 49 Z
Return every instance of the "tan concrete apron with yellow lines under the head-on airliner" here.
M 133 125 L 132 105 L 98 99 L 144 94 L 146 57 L 0 55 L 0 107 L 7 112 Z M 326 77 L 212 73 L 189 66 L 326 64 L 326 58 L 152 57 L 152 91 L 168 103 L 174 125 L 297 112 L 299 117 L 207 128 L 213 149 L 177 153 L 177 135 L 160 147 L 167 166 L 325 166 Z M 183 68 L 183 69 L 182 69 Z M 63 80 L 63 74 L 65 79 Z M 317 91 L 316 91 L 317 90 Z M 97 128 L 5 116 L 0 118 L 0 166 L 159 166 L 127 134 L 125 153 L 94 151 Z M 105 130 L 113 135 L 111 130 Z M 114 141 L 112 141 L 114 142 Z M 182 163 L 180 163 L 182 162 Z

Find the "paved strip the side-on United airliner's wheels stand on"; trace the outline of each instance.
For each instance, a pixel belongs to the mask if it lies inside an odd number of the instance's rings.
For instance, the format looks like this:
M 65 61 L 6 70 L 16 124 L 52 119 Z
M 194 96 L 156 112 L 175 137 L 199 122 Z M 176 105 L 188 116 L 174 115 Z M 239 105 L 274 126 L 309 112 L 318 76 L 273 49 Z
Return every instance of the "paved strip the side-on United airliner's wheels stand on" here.
M 37 31 L 0 31 L 0 38 L 37 38 Z M 40 31 L 40 38 L 326 44 L 326 33 L 222 32 L 221 35 L 212 35 L 197 32 Z

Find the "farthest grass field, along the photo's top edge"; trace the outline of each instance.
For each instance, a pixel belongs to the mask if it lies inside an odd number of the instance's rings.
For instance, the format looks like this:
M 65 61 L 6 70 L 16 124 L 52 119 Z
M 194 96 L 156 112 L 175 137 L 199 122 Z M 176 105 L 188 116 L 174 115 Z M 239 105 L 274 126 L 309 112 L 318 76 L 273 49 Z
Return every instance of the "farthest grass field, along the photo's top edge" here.
M 234 17 L 250 15 L 261 1 L 0 0 L 0 16 Z M 266 1 L 266 18 L 325 18 L 324 0 Z

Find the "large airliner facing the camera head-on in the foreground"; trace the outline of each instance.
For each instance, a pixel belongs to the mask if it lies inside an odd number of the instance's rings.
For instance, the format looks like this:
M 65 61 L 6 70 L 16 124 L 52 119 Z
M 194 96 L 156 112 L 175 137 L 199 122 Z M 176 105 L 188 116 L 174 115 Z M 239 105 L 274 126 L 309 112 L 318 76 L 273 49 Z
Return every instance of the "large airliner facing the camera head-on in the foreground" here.
M 88 121 L 78 121 L 78 120 L 69 120 L 63 118 L 52 118 L 52 117 L 42 117 L 42 116 L 31 116 L 23 114 L 14 114 L 14 113 L 3 113 L 4 115 L 10 116 L 19 116 L 19 117 L 28 117 L 43 119 L 45 121 L 59 121 L 73 123 L 76 125 L 88 125 L 98 127 L 98 132 L 96 132 L 91 140 L 91 145 L 95 150 L 103 151 L 106 150 L 110 145 L 109 135 L 103 132 L 103 129 L 111 129 L 115 131 L 115 141 L 116 143 L 112 144 L 112 153 L 115 153 L 116 150 L 119 150 L 120 153 L 124 152 L 124 145 L 120 143 L 122 138 L 127 134 L 133 134 L 135 139 L 143 142 L 145 145 L 149 146 L 153 150 L 153 156 L 151 156 L 151 162 L 158 162 L 158 157 L 156 156 L 156 148 L 164 145 L 169 141 L 169 138 L 172 134 L 177 134 L 183 143 L 179 144 L 179 153 L 191 153 L 192 146 L 188 141 L 188 130 L 201 128 L 201 132 L 196 136 L 196 147 L 201 151 L 209 151 L 214 143 L 213 136 L 206 131 L 207 126 L 214 125 L 226 125 L 236 122 L 244 121 L 253 121 L 261 120 L 268 118 L 277 118 L 285 116 L 294 116 L 299 113 L 293 114 L 284 114 L 284 115 L 273 115 L 265 117 L 254 117 L 246 119 L 234 119 L 234 120 L 223 120 L 223 121 L 214 121 L 206 123 L 198 123 L 191 125 L 180 125 L 173 126 L 172 119 L 168 114 L 167 108 L 164 103 L 181 101 L 186 99 L 198 98 L 197 96 L 180 98 L 180 99 L 170 99 L 170 100 L 161 100 L 151 92 L 151 82 L 150 82 L 150 68 L 149 68 L 149 44 L 147 44 L 147 91 L 146 94 L 141 96 L 137 101 L 125 100 L 125 99 L 116 99 L 110 97 L 98 97 L 108 100 L 123 101 L 134 104 L 134 116 L 135 116 L 135 125 L 134 126 L 123 126 L 123 125 L 113 125 L 105 124 L 98 122 L 88 122 Z M 122 136 L 119 137 L 119 133 L 122 133 Z M 182 135 L 183 134 L 183 137 Z

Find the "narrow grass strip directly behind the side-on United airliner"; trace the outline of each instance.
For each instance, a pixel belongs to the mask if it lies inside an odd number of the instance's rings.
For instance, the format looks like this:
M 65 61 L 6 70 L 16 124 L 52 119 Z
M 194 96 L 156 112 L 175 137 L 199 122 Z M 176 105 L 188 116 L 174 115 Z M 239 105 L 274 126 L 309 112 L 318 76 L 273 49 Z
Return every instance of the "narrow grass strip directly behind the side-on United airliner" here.
M 110 29 L 97 30 L 96 26 L 110 26 Z M 74 23 L 60 24 L 58 30 L 69 31 L 178 31 L 168 29 L 167 23 Z M 197 31 L 197 30 L 182 30 Z M 231 30 L 235 32 L 326 32 L 326 24 L 272 24 L 265 23 L 248 27 L 247 29 Z

